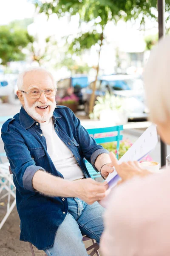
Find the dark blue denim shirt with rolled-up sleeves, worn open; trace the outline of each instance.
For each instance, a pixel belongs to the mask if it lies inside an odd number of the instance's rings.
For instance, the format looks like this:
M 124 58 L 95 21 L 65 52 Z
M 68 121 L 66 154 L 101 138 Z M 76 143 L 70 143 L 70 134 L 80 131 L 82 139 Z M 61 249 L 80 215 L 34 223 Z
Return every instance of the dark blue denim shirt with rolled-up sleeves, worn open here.
M 57 106 L 53 122 L 57 135 L 71 150 L 85 177 L 90 177 L 90 174 L 84 157 L 98 172 L 94 166 L 96 158 L 109 152 L 96 144 L 71 109 Z M 3 124 L 1 137 L 16 186 L 17 211 L 21 221 L 20 240 L 29 241 L 39 250 L 45 250 L 54 243 L 57 228 L 68 212 L 68 202 L 67 198 L 63 200 L 61 197 L 40 194 L 33 188 L 32 178 L 38 170 L 63 176 L 47 152 L 40 123 L 32 119 L 23 107 L 20 113 Z

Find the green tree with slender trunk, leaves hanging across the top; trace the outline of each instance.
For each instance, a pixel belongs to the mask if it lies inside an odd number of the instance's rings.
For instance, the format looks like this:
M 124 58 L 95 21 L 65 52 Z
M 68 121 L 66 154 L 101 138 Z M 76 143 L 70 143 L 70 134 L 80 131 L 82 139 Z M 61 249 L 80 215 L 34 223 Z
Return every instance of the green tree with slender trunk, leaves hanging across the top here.
M 100 52 L 105 43 L 105 26 L 111 20 L 116 23 L 120 19 L 139 19 L 141 25 L 144 25 L 147 17 L 156 19 L 153 9 L 156 8 L 157 0 L 34 0 L 34 3 L 39 12 L 44 12 L 48 16 L 57 13 L 58 17 L 62 17 L 66 12 L 70 15 L 79 15 L 79 34 L 70 44 L 70 51 L 79 54 L 93 45 L 99 47 L 96 79 L 89 106 L 91 113 L 99 73 Z M 166 11 L 170 12 L 170 0 L 166 0 Z M 82 24 L 87 24 L 88 31 L 82 30 Z

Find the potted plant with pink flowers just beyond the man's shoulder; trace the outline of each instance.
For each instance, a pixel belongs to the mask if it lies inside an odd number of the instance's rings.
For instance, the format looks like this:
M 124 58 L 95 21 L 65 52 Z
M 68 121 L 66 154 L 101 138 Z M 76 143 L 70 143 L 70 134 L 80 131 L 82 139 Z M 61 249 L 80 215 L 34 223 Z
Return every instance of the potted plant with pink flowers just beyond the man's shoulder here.
M 57 102 L 57 105 L 64 105 L 70 108 L 75 113 L 77 111 L 79 98 L 73 93 L 72 90 L 69 90 L 69 89 L 70 88 L 68 88 L 64 96 L 60 97 L 57 95 L 56 102 Z

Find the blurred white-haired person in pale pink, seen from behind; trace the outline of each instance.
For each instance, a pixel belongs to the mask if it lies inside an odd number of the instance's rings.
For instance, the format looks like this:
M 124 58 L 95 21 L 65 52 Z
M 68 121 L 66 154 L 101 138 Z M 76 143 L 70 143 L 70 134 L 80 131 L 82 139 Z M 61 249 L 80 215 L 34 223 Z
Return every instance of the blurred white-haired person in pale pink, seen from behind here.
M 170 36 L 167 36 L 154 47 L 144 71 L 150 120 L 167 144 L 170 144 L 169 74 Z M 169 256 L 170 169 L 149 175 L 137 162 L 118 165 L 113 155 L 111 158 L 122 182 L 129 181 L 113 189 L 108 202 L 100 244 L 103 256 Z

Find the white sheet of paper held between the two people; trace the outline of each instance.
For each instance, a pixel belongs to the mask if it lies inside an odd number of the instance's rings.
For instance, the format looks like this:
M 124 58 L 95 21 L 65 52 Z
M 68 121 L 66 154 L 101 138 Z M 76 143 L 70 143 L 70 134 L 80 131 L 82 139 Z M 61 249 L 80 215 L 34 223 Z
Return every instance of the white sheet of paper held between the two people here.
M 128 151 L 119 159 L 119 164 L 127 161 L 139 161 L 146 156 L 158 143 L 156 125 L 150 125 L 138 140 L 128 149 Z M 109 188 L 116 186 L 121 177 L 116 170 L 110 173 L 106 179 Z

